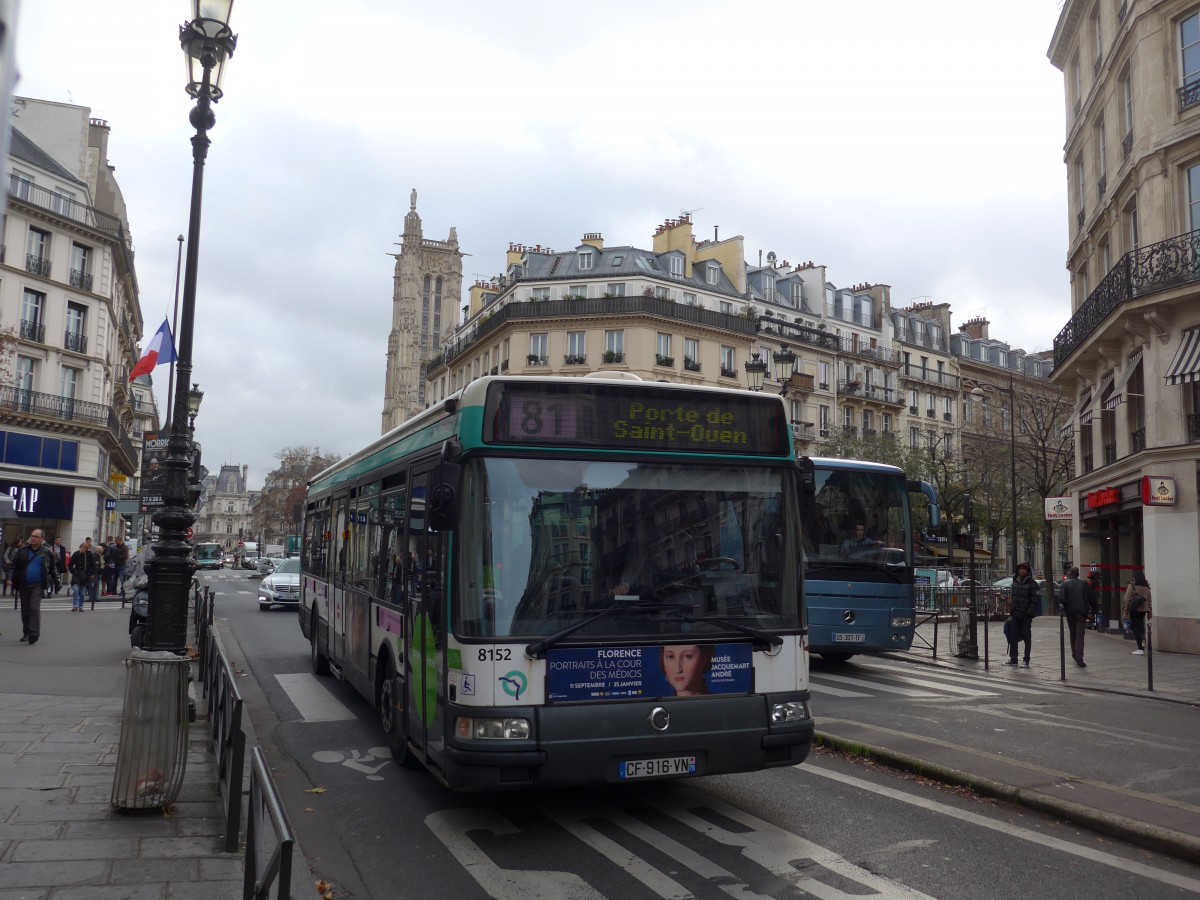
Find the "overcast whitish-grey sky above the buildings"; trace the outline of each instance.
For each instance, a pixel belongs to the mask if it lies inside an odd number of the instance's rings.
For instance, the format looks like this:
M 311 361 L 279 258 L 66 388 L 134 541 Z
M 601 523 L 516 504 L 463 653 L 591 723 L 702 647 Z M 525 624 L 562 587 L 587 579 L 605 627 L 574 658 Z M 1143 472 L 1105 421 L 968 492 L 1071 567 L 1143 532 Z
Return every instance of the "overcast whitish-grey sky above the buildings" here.
M 19 96 L 112 127 L 145 337 L 170 314 L 193 130 L 184 0 L 24 0 Z M 204 464 L 379 433 L 412 188 L 463 282 L 510 241 L 745 236 L 1046 349 L 1070 316 L 1056 0 L 239 0 L 204 175 Z M 19 122 L 18 122 L 19 125 Z M 156 373 L 160 404 L 167 368 Z

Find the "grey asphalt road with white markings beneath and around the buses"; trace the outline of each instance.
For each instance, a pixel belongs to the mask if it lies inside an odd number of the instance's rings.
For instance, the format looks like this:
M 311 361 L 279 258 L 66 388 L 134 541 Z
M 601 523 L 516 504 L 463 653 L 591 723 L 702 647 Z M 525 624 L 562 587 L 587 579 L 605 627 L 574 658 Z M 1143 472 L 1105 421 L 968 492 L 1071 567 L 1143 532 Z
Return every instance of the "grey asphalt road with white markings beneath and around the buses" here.
M 826 750 L 798 768 L 690 782 L 454 794 L 391 762 L 378 748 L 373 713 L 350 689 L 308 674 L 294 611 L 260 612 L 248 572 L 203 577 L 217 590 L 216 614 L 245 676 L 239 688 L 301 848 L 335 896 L 1200 893 L 1198 866 Z M 1192 748 L 1184 708 L 1003 691 L 889 665 L 900 671 L 818 662 L 818 715 L 887 721 L 1048 761 L 1064 743 L 1093 745 L 1097 766 L 1117 775 L 1130 736 L 1144 736 L 1164 758 Z

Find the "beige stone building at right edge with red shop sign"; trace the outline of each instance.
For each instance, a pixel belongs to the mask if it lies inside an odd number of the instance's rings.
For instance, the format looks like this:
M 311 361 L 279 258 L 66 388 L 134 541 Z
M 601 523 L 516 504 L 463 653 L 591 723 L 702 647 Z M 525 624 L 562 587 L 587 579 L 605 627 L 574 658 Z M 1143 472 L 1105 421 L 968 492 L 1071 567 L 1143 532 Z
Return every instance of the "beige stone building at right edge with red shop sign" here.
M 1160 649 L 1200 652 L 1200 4 L 1067 0 L 1075 562 L 1144 570 Z

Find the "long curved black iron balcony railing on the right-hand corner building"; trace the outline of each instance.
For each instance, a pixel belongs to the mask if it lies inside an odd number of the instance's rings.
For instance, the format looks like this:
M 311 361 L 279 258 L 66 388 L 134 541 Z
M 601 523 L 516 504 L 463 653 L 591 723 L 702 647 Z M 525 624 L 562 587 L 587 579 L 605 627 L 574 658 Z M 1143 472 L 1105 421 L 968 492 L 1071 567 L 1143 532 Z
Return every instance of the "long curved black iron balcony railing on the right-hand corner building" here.
M 1200 230 L 1129 251 L 1055 337 L 1055 368 L 1063 365 L 1122 304 L 1196 283 L 1200 283 Z

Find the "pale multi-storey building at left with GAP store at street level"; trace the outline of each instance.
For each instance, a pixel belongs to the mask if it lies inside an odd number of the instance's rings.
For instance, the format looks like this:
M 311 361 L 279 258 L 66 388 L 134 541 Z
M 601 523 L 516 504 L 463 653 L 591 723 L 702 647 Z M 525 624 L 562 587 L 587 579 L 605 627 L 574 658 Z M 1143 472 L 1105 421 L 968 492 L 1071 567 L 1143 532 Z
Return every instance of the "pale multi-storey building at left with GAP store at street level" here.
M 142 308 L 107 122 L 84 107 L 13 98 L 5 164 L 0 325 L 0 490 L 18 500 L 5 539 L 42 528 L 78 546 L 124 534 L 118 496 L 140 434 L 128 372 Z

